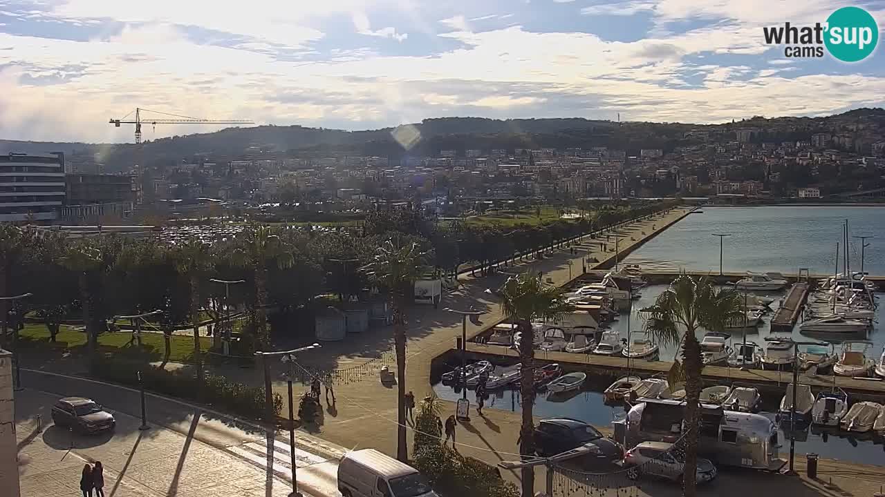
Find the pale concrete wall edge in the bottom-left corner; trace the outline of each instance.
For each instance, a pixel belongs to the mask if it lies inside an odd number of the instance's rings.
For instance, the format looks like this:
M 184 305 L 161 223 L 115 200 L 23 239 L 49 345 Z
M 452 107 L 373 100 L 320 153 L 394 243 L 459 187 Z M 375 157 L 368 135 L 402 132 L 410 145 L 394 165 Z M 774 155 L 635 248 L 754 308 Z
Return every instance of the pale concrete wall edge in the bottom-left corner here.
M 0 489 L 19 497 L 19 449 L 12 398 L 12 354 L 0 348 Z

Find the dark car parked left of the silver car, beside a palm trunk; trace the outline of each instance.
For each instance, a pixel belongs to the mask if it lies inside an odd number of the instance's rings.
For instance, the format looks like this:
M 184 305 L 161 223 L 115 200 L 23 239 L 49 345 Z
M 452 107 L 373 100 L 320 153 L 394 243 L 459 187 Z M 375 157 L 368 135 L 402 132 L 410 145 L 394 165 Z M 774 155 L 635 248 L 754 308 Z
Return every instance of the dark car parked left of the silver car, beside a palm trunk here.
M 606 439 L 592 425 L 578 419 L 543 419 L 535 426 L 538 455 L 550 457 L 578 447 L 589 449 L 584 456 L 589 463 L 615 463 L 624 456 L 624 449 L 617 442 Z

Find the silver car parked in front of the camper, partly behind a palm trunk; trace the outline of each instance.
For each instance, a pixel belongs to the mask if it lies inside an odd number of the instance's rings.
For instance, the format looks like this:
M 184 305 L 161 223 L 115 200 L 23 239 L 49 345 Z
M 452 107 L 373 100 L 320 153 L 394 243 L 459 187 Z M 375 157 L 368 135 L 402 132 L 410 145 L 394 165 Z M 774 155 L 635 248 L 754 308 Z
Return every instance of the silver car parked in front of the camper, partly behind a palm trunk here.
M 627 478 L 637 479 L 642 475 L 666 478 L 682 484 L 685 472 L 685 459 L 679 451 L 671 450 L 673 444 L 666 442 L 643 442 L 631 448 L 624 455 Z M 716 478 L 716 466 L 709 459 L 697 458 L 696 478 L 698 483 Z

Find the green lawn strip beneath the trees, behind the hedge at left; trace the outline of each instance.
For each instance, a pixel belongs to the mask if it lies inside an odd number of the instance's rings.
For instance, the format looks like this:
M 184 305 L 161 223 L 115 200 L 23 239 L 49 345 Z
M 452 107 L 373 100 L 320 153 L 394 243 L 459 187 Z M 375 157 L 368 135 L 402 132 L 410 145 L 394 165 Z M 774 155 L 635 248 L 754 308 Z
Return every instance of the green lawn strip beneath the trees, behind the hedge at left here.
M 139 356 L 140 358 L 161 361 L 163 360 L 165 346 L 163 335 L 160 333 L 142 333 L 142 348 L 130 345 L 132 333 L 102 333 L 98 335 L 98 348 L 101 352 L 112 354 L 124 354 Z M 19 340 L 26 346 L 31 347 L 57 347 L 67 350 L 81 350 L 85 352 L 86 333 L 62 326 L 56 335 L 56 343 L 50 343 L 50 333 L 44 325 L 25 325 L 25 329 L 19 332 Z M 200 347 L 203 351 L 212 348 L 212 339 L 200 337 Z M 169 361 L 173 363 L 190 363 L 194 354 L 194 338 L 191 336 L 171 337 Z

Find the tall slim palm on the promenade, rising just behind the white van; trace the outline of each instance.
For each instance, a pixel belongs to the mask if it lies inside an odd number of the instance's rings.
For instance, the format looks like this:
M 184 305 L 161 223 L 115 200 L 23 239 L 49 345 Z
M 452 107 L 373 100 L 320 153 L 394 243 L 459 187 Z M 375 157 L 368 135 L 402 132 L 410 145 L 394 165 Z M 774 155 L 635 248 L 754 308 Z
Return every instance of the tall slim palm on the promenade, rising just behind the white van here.
M 388 240 L 381 244 L 371 263 L 363 270 L 380 287 L 390 292 L 393 309 L 393 336 L 396 349 L 396 458 L 408 460 L 405 440 L 405 302 L 412 294 L 415 279 L 420 276 L 420 266 L 427 253 L 418 243 Z

